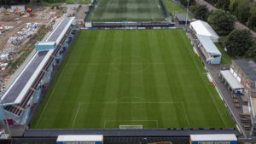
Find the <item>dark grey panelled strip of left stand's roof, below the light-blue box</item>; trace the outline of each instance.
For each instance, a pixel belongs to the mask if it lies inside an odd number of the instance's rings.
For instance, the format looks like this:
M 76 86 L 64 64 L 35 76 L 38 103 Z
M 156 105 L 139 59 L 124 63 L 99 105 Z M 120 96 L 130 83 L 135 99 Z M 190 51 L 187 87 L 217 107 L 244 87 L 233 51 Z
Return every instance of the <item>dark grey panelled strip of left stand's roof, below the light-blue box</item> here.
M 25 87 L 26 83 L 32 77 L 32 74 L 38 68 L 39 64 L 42 62 L 47 53 L 48 50 L 40 51 L 38 52 L 38 54 L 35 55 L 35 58 L 31 61 L 29 66 L 26 67 L 25 71 L 22 72 L 22 74 L 20 75 L 20 78 L 17 79 L 15 84 L 9 89 L 9 93 L 6 93 L 5 97 L 3 98 L 3 103 L 15 102 L 21 90 Z

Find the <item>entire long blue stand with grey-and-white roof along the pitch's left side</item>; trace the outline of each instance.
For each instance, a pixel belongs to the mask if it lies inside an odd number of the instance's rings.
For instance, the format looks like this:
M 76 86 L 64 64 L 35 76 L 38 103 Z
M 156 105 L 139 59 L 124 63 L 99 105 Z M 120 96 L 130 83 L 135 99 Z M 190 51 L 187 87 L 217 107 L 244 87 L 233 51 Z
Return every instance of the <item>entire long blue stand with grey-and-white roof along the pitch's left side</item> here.
M 77 30 L 72 24 L 73 20 L 74 18 L 61 19 L 44 42 L 41 42 L 46 43 L 46 47 L 47 42 L 55 42 L 54 47 L 40 49 L 36 43 L 38 49 L 5 90 L 2 97 L 4 112 L 15 124 L 26 124 L 31 107 L 38 102 L 44 84 L 49 83 L 55 62 L 61 59 L 61 52 L 68 48 L 68 43 Z

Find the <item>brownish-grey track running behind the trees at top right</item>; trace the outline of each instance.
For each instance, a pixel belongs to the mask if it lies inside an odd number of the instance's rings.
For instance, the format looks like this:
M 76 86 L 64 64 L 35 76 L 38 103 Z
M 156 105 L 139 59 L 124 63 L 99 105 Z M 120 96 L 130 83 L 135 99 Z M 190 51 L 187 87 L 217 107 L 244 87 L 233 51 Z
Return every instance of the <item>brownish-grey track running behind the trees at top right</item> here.
M 205 0 L 195 0 L 196 3 L 199 3 L 201 5 L 207 5 L 207 9 L 209 11 L 216 10 L 217 8 L 213 7 L 211 3 L 207 3 Z M 247 26 L 244 26 L 239 21 L 236 21 L 235 28 L 238 30 L 248 30 L 252 33 L 253 37 L 256 38 L 256 32 L 253 32 L 251 29 L 249 29 Z

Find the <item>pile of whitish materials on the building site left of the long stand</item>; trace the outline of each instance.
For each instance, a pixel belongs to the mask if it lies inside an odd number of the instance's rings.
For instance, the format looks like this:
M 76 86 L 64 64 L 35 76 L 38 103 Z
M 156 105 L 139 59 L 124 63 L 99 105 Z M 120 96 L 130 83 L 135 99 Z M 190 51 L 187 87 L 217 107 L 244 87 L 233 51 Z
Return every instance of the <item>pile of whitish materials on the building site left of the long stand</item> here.
M 22 28 L 20 32 L 16 32 L 14 37 L 9 37 L 8 43 L 18 45 L 22 43 L 26 38 L 32 37 L 34 33 L 38 31 L 40 24 L 26 23 L 26 27 Z

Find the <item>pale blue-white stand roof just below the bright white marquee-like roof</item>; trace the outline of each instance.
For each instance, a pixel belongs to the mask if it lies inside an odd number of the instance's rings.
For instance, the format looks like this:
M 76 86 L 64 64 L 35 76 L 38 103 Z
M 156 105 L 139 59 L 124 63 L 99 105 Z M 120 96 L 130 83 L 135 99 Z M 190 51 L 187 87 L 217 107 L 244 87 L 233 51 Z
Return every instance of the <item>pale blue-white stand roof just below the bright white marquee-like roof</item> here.
M 198 38 L 200 43 L 203 45 L 203 47 L 207 50 L 207 53 L 211 53 L 214 55 L 221 55 L 220 51 L 212 42 L 210 37 L 199 35 L 199 34 L 196 34 L 196 37 Z

